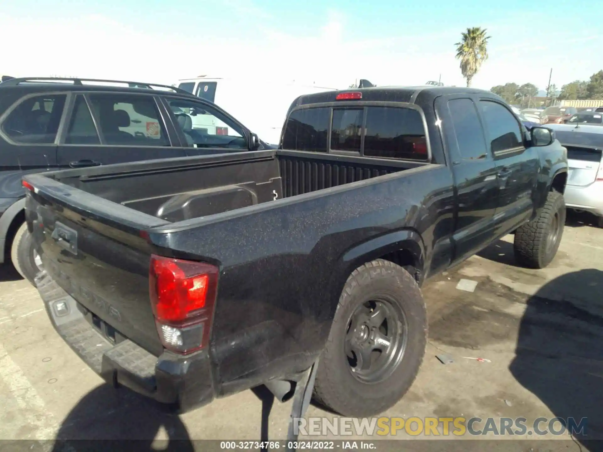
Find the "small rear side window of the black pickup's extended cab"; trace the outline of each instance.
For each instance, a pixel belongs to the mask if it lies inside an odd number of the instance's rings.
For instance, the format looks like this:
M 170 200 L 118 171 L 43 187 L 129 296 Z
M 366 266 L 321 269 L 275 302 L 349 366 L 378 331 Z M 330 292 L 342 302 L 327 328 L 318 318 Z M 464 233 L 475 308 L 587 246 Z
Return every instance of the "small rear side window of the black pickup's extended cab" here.
M 448 101 L 456 142 L 463 159 L 478 159 L 487 155 L 484 129 L 471 99 Z

